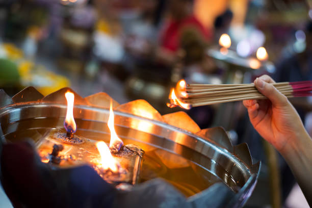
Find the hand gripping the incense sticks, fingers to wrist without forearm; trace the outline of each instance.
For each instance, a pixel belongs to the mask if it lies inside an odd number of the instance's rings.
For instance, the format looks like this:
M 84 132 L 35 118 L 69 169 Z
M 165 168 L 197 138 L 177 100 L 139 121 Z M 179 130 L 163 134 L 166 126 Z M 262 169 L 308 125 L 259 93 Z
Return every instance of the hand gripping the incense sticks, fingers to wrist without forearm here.
M 295 108 L 273 83 L 268 75 L 258 77 L 255 87 L 268 99 L 244 100 L 243 104 L 256 131 L 282 153 L 288 146 L 296 147 L 296 138 L 305 137 L 306 132 Z

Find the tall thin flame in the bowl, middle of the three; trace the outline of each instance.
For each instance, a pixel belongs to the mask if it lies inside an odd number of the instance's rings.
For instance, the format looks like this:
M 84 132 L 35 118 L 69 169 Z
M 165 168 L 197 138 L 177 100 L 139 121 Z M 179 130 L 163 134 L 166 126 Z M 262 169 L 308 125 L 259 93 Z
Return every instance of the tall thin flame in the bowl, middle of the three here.
M 123 145 L 122 140 L 117 136 L 115 127 L 114 127 L 114 112 L 113 112 L 113 104 L 111 100 L 111 106 L 110 106 L 110 115 L 107 122 L 107 125 L 111 132 L 111 141 L 110 141 L 110 149 L 113 152 L 118 152 L 120 147 Z

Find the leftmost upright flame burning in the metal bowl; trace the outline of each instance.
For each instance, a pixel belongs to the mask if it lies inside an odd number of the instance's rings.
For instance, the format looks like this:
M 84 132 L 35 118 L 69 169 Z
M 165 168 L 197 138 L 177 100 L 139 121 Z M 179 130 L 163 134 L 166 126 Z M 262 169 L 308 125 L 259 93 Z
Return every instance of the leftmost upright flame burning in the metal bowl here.
M 65 97 L 67 100 L 67 112 L 64 120 L 64 127 L 68 133 L 73 134 L 76 132 L 76 123 L 73 117 L 73 102 L 75 96 L 72 92 L 66 92 Z

